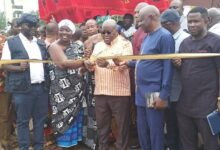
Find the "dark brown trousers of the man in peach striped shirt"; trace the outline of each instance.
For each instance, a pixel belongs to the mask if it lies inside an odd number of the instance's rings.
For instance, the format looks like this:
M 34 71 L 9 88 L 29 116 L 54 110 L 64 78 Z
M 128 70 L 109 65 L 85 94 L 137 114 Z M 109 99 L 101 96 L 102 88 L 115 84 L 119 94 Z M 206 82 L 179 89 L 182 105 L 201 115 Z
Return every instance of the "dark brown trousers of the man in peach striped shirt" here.
M 118 128 L 116 149 L 127 150 L 129 137 L 130 99 L 127 96 L 95 96 L 95 111 L 98 127 L 99 150 L 109 150 L 112 117 Z

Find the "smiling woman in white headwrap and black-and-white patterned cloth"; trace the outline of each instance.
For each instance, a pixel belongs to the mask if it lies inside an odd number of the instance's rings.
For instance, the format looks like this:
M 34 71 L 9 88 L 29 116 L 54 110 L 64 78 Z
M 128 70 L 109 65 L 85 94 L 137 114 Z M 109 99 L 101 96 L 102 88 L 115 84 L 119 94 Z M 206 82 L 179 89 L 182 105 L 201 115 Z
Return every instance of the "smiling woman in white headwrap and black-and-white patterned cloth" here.
M 52 127 L 57 135 L 58 146 L 70 148 L 82 140 L 85 88 L 80 74 L 84 62 L 80 58 L 83 57 L 83 51 L 71 41 L 75 25 L 65 19 L 58 26 L 59 39 L 49 47 L 54 62 L 49 65 Z

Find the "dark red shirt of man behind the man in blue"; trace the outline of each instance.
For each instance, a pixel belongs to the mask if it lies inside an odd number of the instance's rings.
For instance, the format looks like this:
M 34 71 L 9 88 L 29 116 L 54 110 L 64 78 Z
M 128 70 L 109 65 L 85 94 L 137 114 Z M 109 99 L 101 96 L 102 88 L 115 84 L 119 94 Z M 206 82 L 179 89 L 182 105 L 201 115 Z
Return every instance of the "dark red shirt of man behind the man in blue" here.
M 140 27 L 133 35 L 132 45 L 133 45 L 133 53 L 134 55 L 139 55 L 141 50 L 141 44 L 145 38 L 147 33 Z

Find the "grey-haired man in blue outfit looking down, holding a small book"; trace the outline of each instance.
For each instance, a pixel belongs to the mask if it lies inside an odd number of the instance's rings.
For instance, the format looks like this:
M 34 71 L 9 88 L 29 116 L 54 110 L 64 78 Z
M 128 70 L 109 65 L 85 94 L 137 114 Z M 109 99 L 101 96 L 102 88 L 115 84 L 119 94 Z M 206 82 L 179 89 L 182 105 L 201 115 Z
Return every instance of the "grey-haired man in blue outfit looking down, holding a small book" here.
M 152 5 L 140 10 L 142 28 L 148 33 L 141 55 L 174 53 L 175 42 L 161 27 L 160 12 Z M 164 109 L 170 95 L 171 60 L 141 60 L 136 63 L 137 127 L 142 150 L 163 150 Z

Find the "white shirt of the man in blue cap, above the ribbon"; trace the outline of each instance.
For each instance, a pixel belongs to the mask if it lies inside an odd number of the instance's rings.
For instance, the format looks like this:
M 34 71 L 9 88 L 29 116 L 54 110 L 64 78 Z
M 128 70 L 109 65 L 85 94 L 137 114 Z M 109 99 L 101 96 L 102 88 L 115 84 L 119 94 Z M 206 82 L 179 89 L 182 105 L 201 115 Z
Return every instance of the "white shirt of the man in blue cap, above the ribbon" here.
M 189 34 L 183 31 L 182 28 L 179 29 L 175 34 L 173 34 L 173 38 L 175 40 L 175 53 L 179 53 L 180 44 L 187 37 L 189 37 Z

